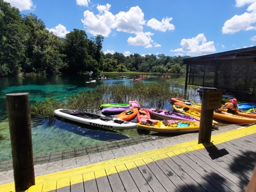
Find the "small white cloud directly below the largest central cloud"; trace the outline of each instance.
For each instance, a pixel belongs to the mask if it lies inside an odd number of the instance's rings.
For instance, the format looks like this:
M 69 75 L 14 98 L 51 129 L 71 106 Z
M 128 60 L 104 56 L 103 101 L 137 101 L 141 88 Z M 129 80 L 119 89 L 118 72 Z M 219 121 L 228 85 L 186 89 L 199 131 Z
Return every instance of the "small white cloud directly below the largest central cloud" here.
M 127 39 L 127 42 L 129 45 L 134 45 L 134 46 L 145 46 L 146 48 L 150 47 L 151 42 L 153 42 L 153 40 L 151 39 L 150 35 L 153 35 L 151 33 L 141 33 L 138 34 L 135 37 L 129 37 Z M 152 47 L 152 45 L 151 45 Z

